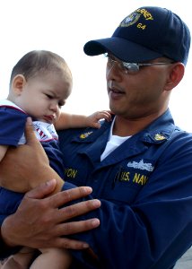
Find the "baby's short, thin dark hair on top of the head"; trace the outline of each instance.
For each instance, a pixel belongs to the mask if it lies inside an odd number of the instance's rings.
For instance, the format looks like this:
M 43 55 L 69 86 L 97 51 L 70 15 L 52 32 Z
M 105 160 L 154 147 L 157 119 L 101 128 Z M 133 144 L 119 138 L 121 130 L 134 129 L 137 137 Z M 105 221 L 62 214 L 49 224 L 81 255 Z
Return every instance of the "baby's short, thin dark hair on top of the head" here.
M 17 74 L 22 74 L 26 81 L 39 73 L 45 72 L 59 72 L 61 69 L 71 74 L 65 59 L 62 56 L 58 56 L 56 53 L 48 50 L 32 50 L 22 56 L 22 58 L 13 66 L 10 85 L 13 81 L 13 77 Z

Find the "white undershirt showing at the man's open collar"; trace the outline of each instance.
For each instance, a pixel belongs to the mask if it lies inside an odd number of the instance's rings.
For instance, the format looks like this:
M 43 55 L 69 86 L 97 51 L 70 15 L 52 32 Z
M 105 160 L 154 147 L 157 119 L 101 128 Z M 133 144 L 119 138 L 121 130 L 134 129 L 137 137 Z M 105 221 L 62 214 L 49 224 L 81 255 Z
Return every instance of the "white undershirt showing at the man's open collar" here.
M 103 161 L 111 152 L 113 152 L 121 143 L 124 143 L 130 136 L 118 136 L 113 135 L 112 130 L 115 122 L 115 117 L 113 119 L 112 125 L 110 127 L 109 140 L 106 144 L 104 152 L 100 155 L 100 161 Z

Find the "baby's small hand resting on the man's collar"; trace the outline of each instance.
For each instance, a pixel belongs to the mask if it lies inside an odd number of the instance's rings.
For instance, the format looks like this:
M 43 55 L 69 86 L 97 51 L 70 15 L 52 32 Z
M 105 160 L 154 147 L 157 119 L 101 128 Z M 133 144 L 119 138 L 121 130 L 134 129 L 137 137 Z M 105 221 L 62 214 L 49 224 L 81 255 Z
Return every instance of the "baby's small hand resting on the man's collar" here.
M 88 126 L 93 128 L 100 128 L 99 120 L 101 118 L 105 118 L 107 121 L 111 120 L 111 111 L 110 110 L 103 110 L 94 112 L 92 115 L 87 116 L 87 123 Z

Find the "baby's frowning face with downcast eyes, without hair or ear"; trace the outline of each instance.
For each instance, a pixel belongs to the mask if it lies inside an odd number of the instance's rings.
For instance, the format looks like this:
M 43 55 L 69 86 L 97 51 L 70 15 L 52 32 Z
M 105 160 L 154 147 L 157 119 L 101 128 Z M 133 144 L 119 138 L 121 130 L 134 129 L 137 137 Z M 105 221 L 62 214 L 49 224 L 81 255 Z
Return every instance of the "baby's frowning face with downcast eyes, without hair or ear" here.
M 17 105 L 31 117 L 52 124 L 59 117 L 71 91 L 72 82 L 67 75 L 61 72 L 39 74 L 25 82 L 21 95 L 17 97 Z

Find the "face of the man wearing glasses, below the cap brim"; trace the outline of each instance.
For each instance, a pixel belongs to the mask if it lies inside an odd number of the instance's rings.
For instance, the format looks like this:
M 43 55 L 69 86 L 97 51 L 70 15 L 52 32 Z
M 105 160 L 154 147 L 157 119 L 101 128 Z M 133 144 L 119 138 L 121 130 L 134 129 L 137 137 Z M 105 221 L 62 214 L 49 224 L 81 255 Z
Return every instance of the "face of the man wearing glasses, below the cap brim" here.
M 106 69 L 109 108 L 119 116 L 127 119 L 144 117 L 156 113 L 168 99 L 164 86 L 169 77 L 170 65 L 140 66 L 136 73 L 123 70 L 118 61 L 111 65 L 108 60 Z M 150 63 L 165 62 L 157 58 Z M 147 63 L 147 62 L 145 62 Z

